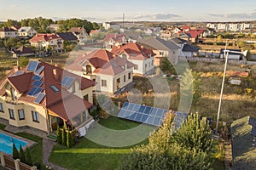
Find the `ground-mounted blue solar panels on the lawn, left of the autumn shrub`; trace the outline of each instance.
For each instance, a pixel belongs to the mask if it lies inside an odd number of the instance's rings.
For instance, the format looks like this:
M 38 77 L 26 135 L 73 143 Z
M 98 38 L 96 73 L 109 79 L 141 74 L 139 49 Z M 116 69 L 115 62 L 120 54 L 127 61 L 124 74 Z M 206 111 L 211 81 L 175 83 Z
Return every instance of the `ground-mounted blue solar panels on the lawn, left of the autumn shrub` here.
M 159 127 L 167 112 L 167 110 L 149 107 L 147 105 L 125 102 L 121 111 L 119 111 L 118 117 Z

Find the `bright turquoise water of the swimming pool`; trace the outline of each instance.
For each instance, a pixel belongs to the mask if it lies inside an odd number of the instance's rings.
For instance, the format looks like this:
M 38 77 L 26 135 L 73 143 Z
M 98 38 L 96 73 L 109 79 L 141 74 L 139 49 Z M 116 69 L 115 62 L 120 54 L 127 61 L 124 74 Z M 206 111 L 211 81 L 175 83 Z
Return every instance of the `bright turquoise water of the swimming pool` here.
M 3 151 L 7 154 L 13 154 L 13 144 L 15 144 L 16 148 L 20 150 L 20 145 L 21 147 L 24 147 L 27 143 L 7 134 L 0 133 L 0 151 Z

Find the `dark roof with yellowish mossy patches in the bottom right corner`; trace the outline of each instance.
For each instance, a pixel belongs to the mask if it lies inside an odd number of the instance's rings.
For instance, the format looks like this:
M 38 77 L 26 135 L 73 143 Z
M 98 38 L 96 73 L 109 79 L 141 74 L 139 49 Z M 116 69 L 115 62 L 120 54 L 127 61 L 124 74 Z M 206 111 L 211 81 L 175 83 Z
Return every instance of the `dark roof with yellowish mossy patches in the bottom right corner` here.
M 256 167 L 256 120 L 246 116 L 232 122 L 232 169 L 255 169 Z

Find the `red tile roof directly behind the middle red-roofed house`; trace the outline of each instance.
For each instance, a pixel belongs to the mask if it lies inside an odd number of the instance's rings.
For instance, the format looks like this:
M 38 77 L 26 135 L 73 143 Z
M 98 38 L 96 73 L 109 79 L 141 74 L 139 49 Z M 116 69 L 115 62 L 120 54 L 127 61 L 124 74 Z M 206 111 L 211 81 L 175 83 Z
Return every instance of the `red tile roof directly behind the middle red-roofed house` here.
M 122 53 L 128 54 L 129 59 L 146 60 L 154 56 L 152 49 L 145 48 L 138 45 L 136 42 L 127 43 L 125 46 L 113 48 L 114 54 L 120 55 Z

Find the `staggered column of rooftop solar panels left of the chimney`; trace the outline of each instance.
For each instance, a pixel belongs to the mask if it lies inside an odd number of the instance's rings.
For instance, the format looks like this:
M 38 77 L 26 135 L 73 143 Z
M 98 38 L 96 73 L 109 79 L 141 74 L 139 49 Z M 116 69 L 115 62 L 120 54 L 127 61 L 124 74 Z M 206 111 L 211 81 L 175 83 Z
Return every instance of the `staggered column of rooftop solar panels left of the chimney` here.
M 44 88 L 41 88 L 41 86 L 44 84 L 44 81 L 42 80 L 43 76 L 40 75 L 43 70 L 44 66 L 39 65 L 38 61 L 30 61 L 26 68 L 26 71 L 33 71 L 35 74 L 32 77 L 32 88 L 27 93 L 27 95 L 35 97 L 36 99 L 34 100 L 34 102 L 37 104 L 40 104 L 45 96 L 45 94 L 42 93 Z

